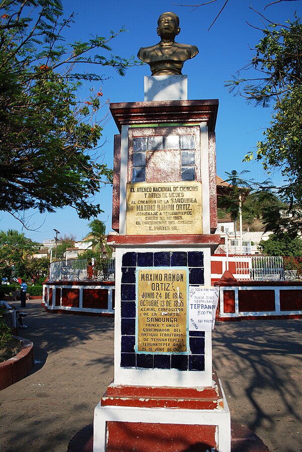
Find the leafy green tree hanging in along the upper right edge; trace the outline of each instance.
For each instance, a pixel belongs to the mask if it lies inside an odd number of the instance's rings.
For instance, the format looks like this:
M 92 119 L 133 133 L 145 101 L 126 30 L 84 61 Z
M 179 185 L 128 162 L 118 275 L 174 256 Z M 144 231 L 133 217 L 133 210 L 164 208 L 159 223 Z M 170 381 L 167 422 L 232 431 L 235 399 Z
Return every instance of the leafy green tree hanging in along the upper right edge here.
M 245 69 L 251 78 L 239 76 L 228 83 L 236 94 L 263 107 L 273 102 L 270 126 L 257 143 L 256 159 L 268 172 L 280 171 L 284 184 L 279 196 L 295 218 L 301 216 L 302 197 L 302 24 L 300 19 L 285 26 L 269 23 L 254 49 L 254 56 Z M 255 76 L 254 76 L 255 74 Z M 249 152 L 245 160 L 254 158 Z M 301 221 L 295 221 L 301 229 Z

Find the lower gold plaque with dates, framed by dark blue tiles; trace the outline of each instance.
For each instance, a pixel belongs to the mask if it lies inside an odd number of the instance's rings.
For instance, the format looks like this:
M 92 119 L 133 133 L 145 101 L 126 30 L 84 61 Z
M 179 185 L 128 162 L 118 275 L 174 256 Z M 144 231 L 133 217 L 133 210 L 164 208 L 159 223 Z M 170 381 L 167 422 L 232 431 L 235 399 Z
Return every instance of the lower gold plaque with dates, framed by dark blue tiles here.
M 138 270 L 137 351 L 187 352 L 187 271 Z

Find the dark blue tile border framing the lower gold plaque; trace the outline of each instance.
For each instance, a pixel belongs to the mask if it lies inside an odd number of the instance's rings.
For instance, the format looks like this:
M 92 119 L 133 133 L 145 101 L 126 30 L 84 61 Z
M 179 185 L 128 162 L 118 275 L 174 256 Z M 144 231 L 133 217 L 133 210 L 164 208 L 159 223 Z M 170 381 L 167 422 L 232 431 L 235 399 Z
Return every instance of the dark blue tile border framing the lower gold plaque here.
M 203 252 L 201 251 L 125 253 L 122 256 L 121 269 L 121 367 L 204 370 L 204 331 L 189 332 L 191 355 L 135 353 L 136 266 L 188 267 L 189 284 L 204 284 Z

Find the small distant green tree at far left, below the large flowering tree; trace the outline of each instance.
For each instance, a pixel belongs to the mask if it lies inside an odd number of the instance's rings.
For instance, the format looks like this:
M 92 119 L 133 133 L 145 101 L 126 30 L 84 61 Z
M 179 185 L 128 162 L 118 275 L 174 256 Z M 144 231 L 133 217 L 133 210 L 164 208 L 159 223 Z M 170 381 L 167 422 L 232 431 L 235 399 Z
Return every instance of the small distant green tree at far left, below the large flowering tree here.
M 0 232 L 0 269 L 11 276 L 14 265 L 23 275 L 24 265 L 37 250 L 37 244 L 26 238 L 23 233 L 9 229 Z

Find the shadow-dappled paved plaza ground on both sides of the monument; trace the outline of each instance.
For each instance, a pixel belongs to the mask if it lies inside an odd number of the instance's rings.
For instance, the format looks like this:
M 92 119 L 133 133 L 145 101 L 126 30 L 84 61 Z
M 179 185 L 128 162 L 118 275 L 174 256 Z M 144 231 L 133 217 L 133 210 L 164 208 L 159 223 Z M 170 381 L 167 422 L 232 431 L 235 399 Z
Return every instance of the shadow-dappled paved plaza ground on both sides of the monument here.
M 0 391 L 0 451 L 66 452 L 113 378 L 114 321 L 51 314 L 39 300 L 26 311 L 20 335 L 34 343 L 37 363 Z M 251 320 L 220 322 L 213 331 L 213 367 L 232 420 L 270 452 L 302 451 L 301 326 L 302 319 Z

